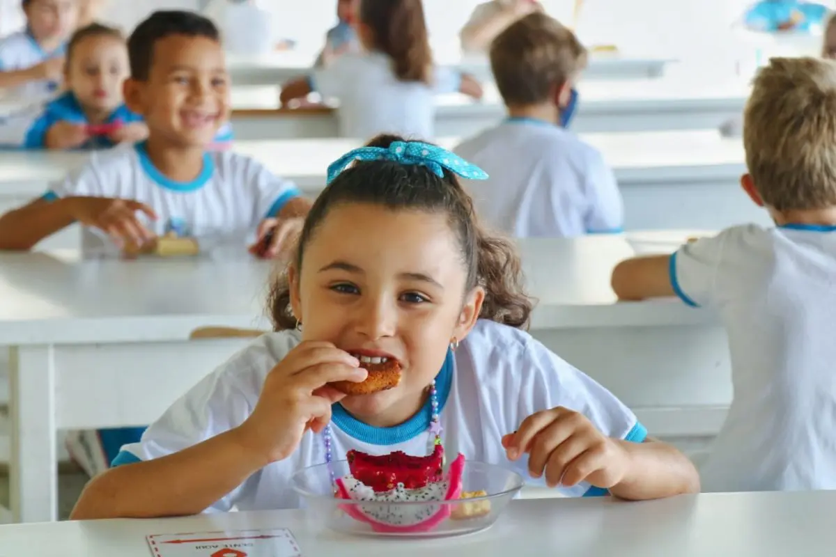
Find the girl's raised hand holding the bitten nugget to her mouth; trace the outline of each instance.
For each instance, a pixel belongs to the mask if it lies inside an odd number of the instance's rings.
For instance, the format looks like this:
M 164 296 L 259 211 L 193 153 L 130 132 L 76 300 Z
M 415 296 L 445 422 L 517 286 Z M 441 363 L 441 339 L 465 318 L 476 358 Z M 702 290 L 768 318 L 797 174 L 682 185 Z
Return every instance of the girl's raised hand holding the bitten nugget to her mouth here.
M 268 373 L 256 408 L 237 432 L 264 465 L 288 458 L 308 429 L 319 433 L 328 425 L 331 405 L 345 397 L 328 383 L 361 382 L 367 373 L 330 342 L 302 342 Z

